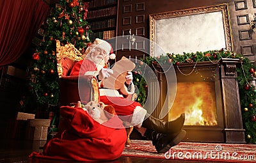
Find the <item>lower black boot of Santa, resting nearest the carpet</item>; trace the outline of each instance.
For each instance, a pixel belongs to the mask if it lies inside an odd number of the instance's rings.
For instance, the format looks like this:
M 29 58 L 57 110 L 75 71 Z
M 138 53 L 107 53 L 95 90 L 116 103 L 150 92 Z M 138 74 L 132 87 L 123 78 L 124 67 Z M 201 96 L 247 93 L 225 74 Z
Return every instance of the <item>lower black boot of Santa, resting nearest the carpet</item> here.
M 179 144 L 180 141 L 184 139 L 186 136 L 186 131 L 180 130 L 180 132 L 166 135 L 147 129 L 144 136 L 152 140 L 152 144 L 155 146 L 157 153 L 165 153 L 166 151 L 170 150 L 172 146 Z

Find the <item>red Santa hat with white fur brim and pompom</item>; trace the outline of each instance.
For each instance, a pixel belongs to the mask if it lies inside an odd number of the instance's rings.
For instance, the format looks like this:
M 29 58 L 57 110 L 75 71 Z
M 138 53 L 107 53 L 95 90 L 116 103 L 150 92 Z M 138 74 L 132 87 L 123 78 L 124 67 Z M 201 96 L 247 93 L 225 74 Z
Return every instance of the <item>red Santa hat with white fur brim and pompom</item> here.
M 86 56 L 90 52 L 90 50 L 94 49 L 95 47 L 104 49 L 107 54 L 110 54 L 110 59 L 115 59 L 115 54 L 113 53 L 113 48 L 111 44 L 99 38 L 96 38 L 94 42 L 85 50 L 84 55 Z

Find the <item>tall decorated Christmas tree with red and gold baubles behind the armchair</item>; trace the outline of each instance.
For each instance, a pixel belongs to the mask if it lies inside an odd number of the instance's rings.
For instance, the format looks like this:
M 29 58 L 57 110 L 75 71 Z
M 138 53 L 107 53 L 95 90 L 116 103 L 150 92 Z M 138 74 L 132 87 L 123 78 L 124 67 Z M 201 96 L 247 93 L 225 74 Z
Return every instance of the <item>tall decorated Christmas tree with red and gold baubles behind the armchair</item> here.
M 81 0 L 60 0 L 51 7 L 28 70 L 29 95 L 23 102 L 27 112 L 35 113 L 38 109 L 54 112 L 60 107 L 56 40 L 60 40 L 61 45 L 72 43 L 83 54 L 91 33 L 86 22 L 87 8 L 88 2 Z

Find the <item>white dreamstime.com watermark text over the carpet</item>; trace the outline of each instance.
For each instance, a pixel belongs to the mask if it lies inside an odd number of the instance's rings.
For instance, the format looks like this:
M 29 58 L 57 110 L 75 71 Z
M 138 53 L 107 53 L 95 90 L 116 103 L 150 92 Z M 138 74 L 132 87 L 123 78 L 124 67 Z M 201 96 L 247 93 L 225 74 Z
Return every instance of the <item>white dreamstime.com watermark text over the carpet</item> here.
M 172 148 L 164 153 L 165 159 L 180 159 L 180 160 L 205 160 L 205 159 L 216 159 L 216 160 L 253 160 L 253 155 L 239 155 L 236 151 L 223 151 L 221 145 L 216 145 L 215 150 L 201 152 L 201 151 L 172 151 Z

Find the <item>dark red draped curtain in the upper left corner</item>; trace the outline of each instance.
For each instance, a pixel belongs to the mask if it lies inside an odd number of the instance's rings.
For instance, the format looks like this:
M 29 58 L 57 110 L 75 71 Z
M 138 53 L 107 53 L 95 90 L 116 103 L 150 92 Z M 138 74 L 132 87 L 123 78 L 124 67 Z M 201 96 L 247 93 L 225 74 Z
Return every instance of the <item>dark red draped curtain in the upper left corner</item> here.
M 0 1 L 0 70 L 25 52 L 49 8 L 42 0 Z

